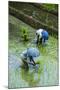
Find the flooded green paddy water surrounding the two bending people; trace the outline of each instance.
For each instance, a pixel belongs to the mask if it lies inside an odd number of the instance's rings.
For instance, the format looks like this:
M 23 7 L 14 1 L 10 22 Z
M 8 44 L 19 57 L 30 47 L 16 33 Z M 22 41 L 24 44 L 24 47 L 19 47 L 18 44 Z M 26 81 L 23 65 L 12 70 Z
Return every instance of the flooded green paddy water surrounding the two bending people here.
M 58 85 L 58 44 L 57 39 L 49 36 L 46 46 L 34 43 L 35 29 L 13 16 L 9 16 L 9 88 Z M 28 29 L 29 41 L 21 39 L 21 27 Z M 37 47 L 40 56 L 38 65 L 29 65 L 29 70 L 22 69 L 20 53 L 27 47 Z

